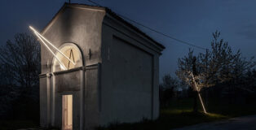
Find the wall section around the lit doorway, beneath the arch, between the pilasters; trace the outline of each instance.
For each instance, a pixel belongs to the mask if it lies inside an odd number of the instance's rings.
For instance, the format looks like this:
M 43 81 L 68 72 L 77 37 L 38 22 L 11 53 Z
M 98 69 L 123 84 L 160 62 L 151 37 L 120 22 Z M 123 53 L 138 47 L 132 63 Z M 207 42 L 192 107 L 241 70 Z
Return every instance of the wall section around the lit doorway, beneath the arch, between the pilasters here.
M 54 94 L 52 94 L 53 111 L 51 111 L 54 119 L 54 126 L 61 128 L 62 126 L 62 96 L 73 95 L 73 128 L 78 129 L 80 127 L 80 72 L 67 72 L 61 74 L 55 74 L 52 76 L 52 88 Z

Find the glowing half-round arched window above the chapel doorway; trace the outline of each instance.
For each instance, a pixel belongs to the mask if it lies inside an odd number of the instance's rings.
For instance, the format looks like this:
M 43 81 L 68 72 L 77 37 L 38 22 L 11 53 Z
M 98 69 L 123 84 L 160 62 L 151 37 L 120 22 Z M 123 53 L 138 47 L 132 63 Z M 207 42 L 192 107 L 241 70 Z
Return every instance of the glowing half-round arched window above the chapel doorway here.
M 57 51 L 55 55 L 57 58 L 60 59 L 61 63 L 63 63 L 65 67 L 62 67 L 62 65 L 60 65 L 60 62 L 58 62 L 58 60 L 54 57 L 52 61 L 52 72 L 60 72 L 66 69 L 68 70 L 75 67 L 82 67 L 82 53 L 81 50 L 77 47 L 77 45 L 73 43 L 64 43 L 64 45 L 61 45 L 59 47 L 59 50 L 63 54 L 65 54 L 69 59 L 71 59 L 74 62 L 74 64 L 68 61 L 67 58 L 65 58 L 62 54 L 60 54 L 60 52 Z

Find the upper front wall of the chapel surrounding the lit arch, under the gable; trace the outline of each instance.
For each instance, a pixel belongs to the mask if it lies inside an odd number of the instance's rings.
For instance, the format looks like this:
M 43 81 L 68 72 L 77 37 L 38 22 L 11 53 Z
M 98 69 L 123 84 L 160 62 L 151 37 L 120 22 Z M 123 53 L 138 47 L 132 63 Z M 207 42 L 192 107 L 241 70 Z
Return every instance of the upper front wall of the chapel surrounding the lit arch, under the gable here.
M 67 6 L 55 16 L 55 20 L 42 32 L 56 47 L 74 43 L 82 50 L 83 64 L 101 63 L 101 29 L 105 11 Z M 91 56 L 89 56 L 89 50 Z M 55 51 L 56 52 L 56 51 Z M 41 46 L 42 74 L 51 72 L 53 55 Z

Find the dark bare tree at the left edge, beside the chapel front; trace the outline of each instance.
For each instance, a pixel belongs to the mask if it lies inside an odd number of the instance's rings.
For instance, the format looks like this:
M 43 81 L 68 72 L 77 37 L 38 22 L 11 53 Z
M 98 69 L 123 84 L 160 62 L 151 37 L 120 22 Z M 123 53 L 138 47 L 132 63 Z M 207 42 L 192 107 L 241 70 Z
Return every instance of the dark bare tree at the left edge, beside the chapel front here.
M 8 118 L 38 119 L 40 58 L 40 44 L 26 33 L 15 34 L 14 41 L 0 47 L 1 88 L 7 91 L 1 99 Z

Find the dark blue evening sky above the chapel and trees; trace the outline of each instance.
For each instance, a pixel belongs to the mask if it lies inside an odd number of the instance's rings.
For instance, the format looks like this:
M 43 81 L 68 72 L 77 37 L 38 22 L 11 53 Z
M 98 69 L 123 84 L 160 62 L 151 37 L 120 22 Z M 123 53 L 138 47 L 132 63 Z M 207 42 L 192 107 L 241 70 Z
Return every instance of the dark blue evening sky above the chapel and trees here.
M 1 0 L 0 44 L 12 39 L 16 32 L 29 32 L 31 24 L 42 29 L 65 0 Z M 72 0 L 87 3 L 86 0 Z M 95 0 L 118 14 L 183 41 L 210 48 L 212 32 L 219 30 L 233 50 L 243 56 L 256 55 L 256 1 L 254 0 Z M 139 27 L 139 26 L 137 26 Z M 166 46 L 160 58 L 160 76 L 174 75 L 177 58 L 188 53 L 188 45 L 173 41 L 139 27 Z M 196 52 L 201 50 L 195 49 Z

